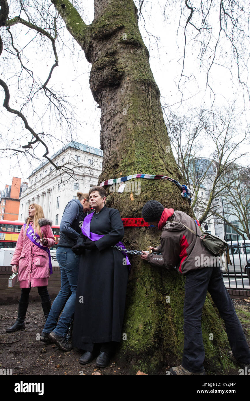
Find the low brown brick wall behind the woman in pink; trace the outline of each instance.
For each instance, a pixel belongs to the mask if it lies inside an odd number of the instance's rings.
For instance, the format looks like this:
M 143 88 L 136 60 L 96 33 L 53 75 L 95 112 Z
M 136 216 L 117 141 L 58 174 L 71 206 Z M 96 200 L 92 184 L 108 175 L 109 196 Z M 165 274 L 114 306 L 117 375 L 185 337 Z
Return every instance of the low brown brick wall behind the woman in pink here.
M 11 266 L 0 266 L 0 304 L 18 302 L 21 295 L 19 283 L 14 288 L 8 288 L 8 279 L 12 275 Z M 53 274 L 49 278 L 48 291 L 51 299 L 55 299 L 61 288 L 60 267 L 53 266 Z M 41 300 L 37 288 L 31 288 L 30 301 Z

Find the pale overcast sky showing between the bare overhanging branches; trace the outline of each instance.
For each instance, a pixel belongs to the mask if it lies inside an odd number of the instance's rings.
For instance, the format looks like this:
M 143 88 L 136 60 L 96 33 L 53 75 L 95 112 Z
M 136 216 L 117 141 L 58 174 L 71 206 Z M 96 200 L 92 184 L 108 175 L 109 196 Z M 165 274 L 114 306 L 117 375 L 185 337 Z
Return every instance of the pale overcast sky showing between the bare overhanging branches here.
M 150 65 L 154 74 L 154 78 L 161 91 L 161 101 L 167 105 L 171 105 L 171 109 L 179 114 L 188 113 L 191 108 L 200 108 L 211 106 L 211 92 L 206 85 L 206 69 L 210 63 L 211 49 L 207 49 L 207 53 L 203 58 L 203 66 L 201 68 L 197 62 L 199 54 L 199 47 L 195 48 L 194 43 L 190 41 L 190 36 L 187 35 L 187 50 L 185 59 L 184 74 L 189 78 L 189 82 L 185 83 L 182 79 L 180 89 L 178 90 L 178 83 L 181 76 L 181 69 L 183 63 L 183 29 L 179 28 L 177 35 L 177 28 L 179 24 L 179 2 L 173 1 L 169 4 L 168 15 L 166 19 L 163 16 L 166 1 L 154 1 L 154 3 L 145 1 L 145 8 L 143 8 L 143 17 L 145 20 L 146 30 L 143 28 L 144 20 L 140 18 L 139 26 L 140 32 L 144 43 L 150 52 Z M 138 5 L 138 2 L 136 2 Z M 248 4 L 249 6 L 249 4 Z M 13 14 L 15 15 L 15 14 Z M 83 18 L 86 23 L 90 23 L 93 19 L 93 3 L 88 0 L 85 6 Z M 218 34 L 218 12 L 214 9 L 211 15 L 213 19 L 213 44 L 217 40 Z M 181 25 L 184 24 L 185 19 L 181 20 Z M 215 26 L 215 23 L 217 24 Z M 18 27 L 19 38 L 23 37 L 24 41 L 28 43 L 29 34 L 27 34 L 26 27 Z M 61 32 L 61 31 L 60 31 Z M 152 36 L 155 36 L 155 38 Z M 89 71 L 91 65 L 86 61 L 83 51 L 80 47 L 73 43 L 72 37 L 67 30 L 63 33 L 64 42 L 67 47 L 58 48 L 59 66 L 53 72 L 50 86 L 55 90 L 63 91 L 65 95 L 69 96 L 68 100 L 71 103 L 74 111 L 75 120 L 72 139 L 78 142 L 91 144 L 96 148 L 100 147 L 100 108 L 93 100 L 91 91 L 89 89 Z M 157 38 L 157 39 L 156 39 Z M 39 43 L 39 42 L 38 42 Z M 51 53 L 51 44 L 45 40 L 45 48 L 37 46 L 32 43 L 25 49 L 25 55 L 28 57 L 25 62 L 28 68 L 33 69 L 41 81 L 45 81 L 51 65 L 53 64 L 54 56 Z M 47 43 L 47 45 L 46 45 Z M 244 44 L 247 54 L 249 54 L 249 44 Z M 46 47 L 48 51 L 46 51 Z M 74 53 L 74 55 L 73 55 Z M 3 51 L 0 60 L 0 67 L 3 67 L 8 57 L 8 54 Z M 239 112 L 243 111 L 241 123 L 244 126 L 245 120 L 249 119 L 249 102 L 244 103 L 244 96 L 242 87 L 238 83 L 237 70 L 235 68 L 232 52 L 225 39 L 222 38 L 220 47 L 217 51 L 217 64 L 211 68 L 209 75 L 209 83 L 213 91 L 216 93 L 214 105 L 218 107 L 228 107 L 234 104 Z M 220 64 L 224 64 L 224 67 Z M 5 71 L 4 77 L 10 77 L 11 73 L 15 71 L 15 64 L 10 63 L 8 71 Z M 3 78 L 4 79 L 4 78 Z M 19 97 L 16 92 L 16 79 L 9 78 L 8 85 L 11 91 L 10 106 L 20 109 L 18 107 Z M 2 104 L 4 97 L 3 91 L 0 90 L 0 103 Z M 182 102 L 181 102 L 182 100 Z M 213 100 L 213 97 L 212 97 Z M 246 100 L 246 97 L 245 97 Z M 16 101 L 16 103 L 15 103 Z M 26 115 L 30 126 L 37 132 L 51 133 L 55 138 L 49 142 L 51 154 L 57 151 L 71 140 L 69 130 L 66 124 L 59 124 L 53 117 L 53 114 L 45 113 L 43 109 L 43 102 L 37 102 L 35 114 L 28 113 Z M 30 138 L 26 131 L 21 130 L 21 122 L 18 117 L 13 120 L 13 115 L 6 112 L 0 107 L 0 120 L 1 120 L 1 135 L 2 147 L 12 142 L 13 146 L 19 144 L 26 144 L 27 139 Z M 12 176 L 21 177 L 26 180 L 27 176 L 31 173 L 33 168 L 37 167 L 41 161 L 33 160 L 32 164 L 28 165 L 26 160 L 21 160 L 21 169 L 18 167 L 17 159 L 12 157 L 12 152 L 2 153 L 0 157 L 0 189 L 4 188 L 4 184 L 11 184 Z M 37 156 L 41 157 L 43 148 L 39 145 L 36 150 Z M 42 159 L 42 157 L 41 157 Z M 131 172 L 133 174 L 135 172 Z

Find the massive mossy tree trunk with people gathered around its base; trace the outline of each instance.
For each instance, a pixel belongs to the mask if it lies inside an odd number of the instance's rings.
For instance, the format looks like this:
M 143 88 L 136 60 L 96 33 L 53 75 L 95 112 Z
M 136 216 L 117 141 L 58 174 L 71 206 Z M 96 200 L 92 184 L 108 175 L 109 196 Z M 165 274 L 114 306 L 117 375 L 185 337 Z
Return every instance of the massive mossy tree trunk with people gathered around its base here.
M 148 173 L 164 174 L 183 184 L 170 149 L 160 92 L 139 32 L 134 2 L 95 0 L 95 17 L 89 26 L 70 3 L 52 2 L 92 64 L 90 87 L 102 111 L 104 162 L 100 182 Z M 146 201 L 157 199 L 165 207 L 192 215 L 175 184 L 165 180 L 140 181 L 140 191 L 118 193 L 106 188 L 107 206 L 118 209 L 121 217 L 141 217 Z M 124 243 L 129 249 L 145 250 L 148 245 L 158 245 L 159 237 L 160 232 L 153 227 L 126 228 Z M 181 361 L 184 278 L 175 271 L 152 267 L 139 256 L 130 260 L 126 336 L 120 356 L 126 357 L 134 369 L 152 373 L 159 365 L 176 365 Z M 170 302 L 166 302 L 166 296 Z M 220 347 L 225 346 L 226 334 L 209 299 L 203 310 L 202 328 L 205 367 L 212 371 L 221 363 Z M 213 333 L 213 340 L 209 340 L 209 333 Z

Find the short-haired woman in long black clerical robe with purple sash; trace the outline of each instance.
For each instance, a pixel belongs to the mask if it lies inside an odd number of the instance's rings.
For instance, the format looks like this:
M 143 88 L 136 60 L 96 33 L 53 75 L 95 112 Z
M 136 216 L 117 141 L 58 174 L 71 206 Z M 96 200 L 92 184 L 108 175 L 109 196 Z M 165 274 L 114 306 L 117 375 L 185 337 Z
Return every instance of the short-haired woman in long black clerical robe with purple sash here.
M 81 235 L 72 248 L 81 254 L 72 343 L 85 350 L 79 358 L 82 365 L 89 363 L 99 348 L 99 367 L 110 363 L 114 346 L 121 341 L 128 281 L 128 259 L 112 247 L 124 236 L 122 219 L 118 210 L 105 206 L 105 200 L 104 188 L 91 188 L 89 203 L 95 211 L 89 231 L 103 237 L 91 241 Z

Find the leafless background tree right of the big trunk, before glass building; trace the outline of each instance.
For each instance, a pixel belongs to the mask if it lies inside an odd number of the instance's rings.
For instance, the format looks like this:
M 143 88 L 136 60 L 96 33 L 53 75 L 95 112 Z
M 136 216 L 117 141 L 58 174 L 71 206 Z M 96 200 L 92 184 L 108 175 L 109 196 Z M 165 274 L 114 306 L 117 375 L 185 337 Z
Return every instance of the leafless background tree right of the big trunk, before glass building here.
M 238 148 L 249 144 L 250 129 L 246 126 L 242 131 L 233 108 L 201 109 L 188 117 L 169 113 L 167 118 L 178 167 L 192 190 L 193 210 L 203 223 L 219 207 L 216 199 L 238 185 L 236 163 L 242 163 L 250 153 Z

